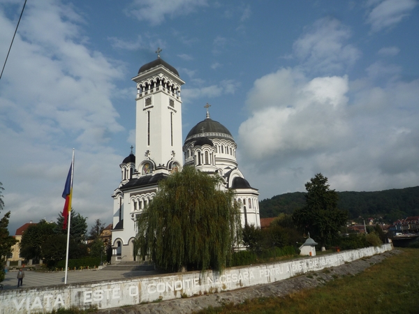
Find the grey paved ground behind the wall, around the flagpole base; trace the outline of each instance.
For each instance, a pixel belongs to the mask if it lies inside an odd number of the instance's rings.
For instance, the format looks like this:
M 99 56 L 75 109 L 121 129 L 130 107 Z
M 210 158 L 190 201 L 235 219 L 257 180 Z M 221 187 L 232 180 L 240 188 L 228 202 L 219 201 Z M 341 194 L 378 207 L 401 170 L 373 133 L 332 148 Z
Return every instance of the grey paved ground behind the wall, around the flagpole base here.
M 24 271 L 23 287 L 42 287 L 46 285 L 64 285 L 64 271 L 38 272 Z M 108 281 L 141 276 L 161 274 L 158 271 L 118 271 L 84 269 L 82 271 L 68 271 L 67 283 L 89 283 L 91 281 Z M 8 271 L 1 283 L 3 290 L 17 289 L 17 271 Z

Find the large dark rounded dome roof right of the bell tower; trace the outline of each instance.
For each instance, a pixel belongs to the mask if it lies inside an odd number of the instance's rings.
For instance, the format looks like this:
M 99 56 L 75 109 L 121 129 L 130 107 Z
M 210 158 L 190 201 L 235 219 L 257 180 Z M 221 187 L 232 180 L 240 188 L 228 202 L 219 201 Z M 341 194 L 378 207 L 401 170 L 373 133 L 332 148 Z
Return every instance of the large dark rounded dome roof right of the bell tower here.
M 186 136 L 185 144 L 199 137 L 207 137 L 209 139 L 228 138 L 229 140 L 234 141 L 233 135 L 231 135 L 230 131 L 225 126 L 210 118 L 200 121 L 189 131 Z

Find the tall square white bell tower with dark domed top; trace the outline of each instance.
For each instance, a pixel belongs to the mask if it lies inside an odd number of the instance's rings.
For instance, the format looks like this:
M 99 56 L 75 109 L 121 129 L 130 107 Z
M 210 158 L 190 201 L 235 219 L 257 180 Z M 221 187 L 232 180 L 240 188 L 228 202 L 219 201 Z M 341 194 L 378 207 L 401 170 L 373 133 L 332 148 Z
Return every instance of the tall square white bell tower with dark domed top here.
M 183 165 L 182 99 L 184 81 L 160 57 L 145 64 L 133 77 L 137 84 L 135 168 L 140 177 L 169 174 Z

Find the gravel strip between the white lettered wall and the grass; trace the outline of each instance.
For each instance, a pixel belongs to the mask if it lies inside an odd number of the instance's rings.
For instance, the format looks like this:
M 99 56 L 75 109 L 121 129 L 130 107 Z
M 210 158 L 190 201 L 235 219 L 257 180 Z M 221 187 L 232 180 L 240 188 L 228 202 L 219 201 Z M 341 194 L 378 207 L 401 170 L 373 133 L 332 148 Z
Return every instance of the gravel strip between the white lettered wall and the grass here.
M 348 276 L 358 274 L 372 264 L 379 263 L 385 258 L 392 255 L 402 253 L 397 249 L 388 251 L 380 255 L 373 255 L 372 257 L 362 258 L 355 262 L 343 264 L 339 267 L 331 267 L 325 271 L 316 271 L 317 276 L 307 276 L 314 274 L 313 272 L 286 279 L 285 281 L 278 281 L 277 283 L 270 283 L 268 285 L 257 285 L 254 287 L 247 287 L 239 290 L 229 292 L 220 292 L 214 294 L 207 294 L 202 297 L 191 297 L 186 299 L 174 299 L 168 301 L 161 301 L 152 304 L 140 304 L 138 306 L 127 306 L 124 308 L 108 308 L 96 313 L 100 314 L 175 314 L 175 313 L 193 313 L 200 311 L 209 306 L 217 307 L 223 304 L 233 303 L 240 304 L 246 299 L 254 299 L 259 297 L 284 297 L 287 294 L 296 292 L 302 289 L 313 288 L 323 285 L 328 281 L 332 281 L 336 276 Z M 311 278 L 309 278 L 311 277 Z

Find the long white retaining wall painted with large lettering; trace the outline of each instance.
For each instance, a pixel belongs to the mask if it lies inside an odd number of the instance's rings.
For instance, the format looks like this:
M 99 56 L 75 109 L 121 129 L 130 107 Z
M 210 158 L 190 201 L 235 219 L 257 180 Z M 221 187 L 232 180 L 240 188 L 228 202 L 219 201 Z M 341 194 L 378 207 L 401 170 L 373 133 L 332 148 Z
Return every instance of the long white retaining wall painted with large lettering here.
M 372 256 L 392 249 L 391 244 L 361 248 L 329 255 L 260 264 L 256 266 L 233 267 L 222 274 L 216 271 L 145 276 L 118 281 L 54 285 L 48 287 L 4 290 L 0 292 L 0 314 L 45 313 L 59 307 L 88 308 L 97 306 L 115 308 L 151 302 L 156 299 L 180 298 L 182 294 L 193 295 L 235 290 L 240 287 L 263 285 L 286 278 L 336 267 L 362 257 Z

